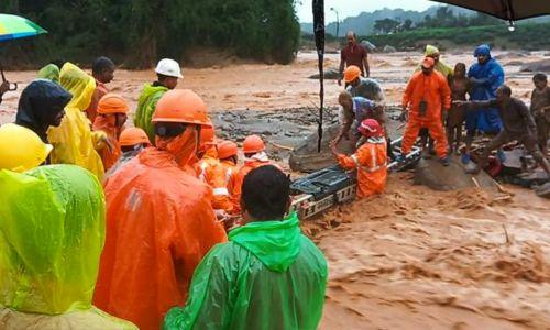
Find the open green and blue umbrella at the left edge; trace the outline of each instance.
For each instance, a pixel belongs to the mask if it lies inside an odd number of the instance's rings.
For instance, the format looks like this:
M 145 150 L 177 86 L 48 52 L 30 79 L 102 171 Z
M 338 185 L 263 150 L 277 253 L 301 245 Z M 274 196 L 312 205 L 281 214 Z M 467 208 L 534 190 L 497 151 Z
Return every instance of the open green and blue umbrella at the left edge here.
M 0 14 L 0 42 L 34 36 L 42 33 L 47 33 L 47 31 L 42 29 L 37 24 L 29 21 L 28 19 L 18 15 Z M 2 81 L 6 81 L 3 67 L 1 63 L 0 63 L 0 73 Z M 18 89 L 18 84 L 12 84 L 9 87 L 9 90 L 15 90 L 15 89 Z

